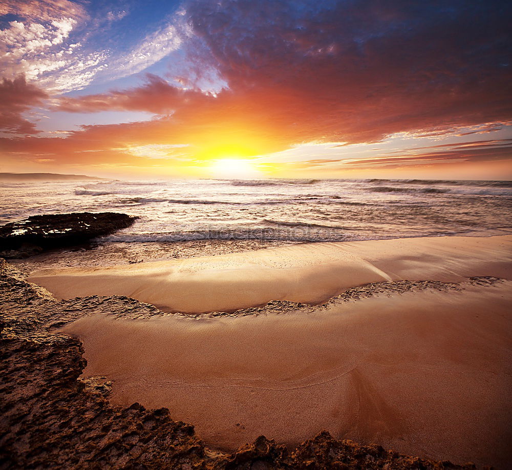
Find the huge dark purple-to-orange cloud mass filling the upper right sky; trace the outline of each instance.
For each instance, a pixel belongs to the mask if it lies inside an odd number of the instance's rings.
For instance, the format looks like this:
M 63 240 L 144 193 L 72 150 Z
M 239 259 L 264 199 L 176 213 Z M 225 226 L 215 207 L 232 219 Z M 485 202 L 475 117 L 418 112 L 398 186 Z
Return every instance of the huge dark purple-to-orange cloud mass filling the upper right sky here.
M 179 119 L 206 106 L 214 121 L 230 113 L 271 121 L 290 144 L 372 141 L 512 117 L 510 34 L 500 8 L 376 0 L 302 13 L 275 0 L 188 8 L 202 38 L 195 60 L 215 64 L 229 90 L 206 99 L 151 76 L 139 88 L 65 100 L 62 109 L 173 111 Z

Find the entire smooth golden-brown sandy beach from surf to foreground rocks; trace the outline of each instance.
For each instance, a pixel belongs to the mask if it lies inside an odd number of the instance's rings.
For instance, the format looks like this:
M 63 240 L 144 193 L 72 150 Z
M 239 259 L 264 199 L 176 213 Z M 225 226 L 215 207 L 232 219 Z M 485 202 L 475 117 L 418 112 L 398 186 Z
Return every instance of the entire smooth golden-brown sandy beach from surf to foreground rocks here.
M 82 342 L 84 376 L 112 381 L 112 403 L 164 406 L 211 448 L 260 434 L 293 448 L 326 430 L 506 468 L 511 246 L 510 236 L 310 243 L 28 280 L 57 298 L 159 306 L 88 314 L 59 332 Z

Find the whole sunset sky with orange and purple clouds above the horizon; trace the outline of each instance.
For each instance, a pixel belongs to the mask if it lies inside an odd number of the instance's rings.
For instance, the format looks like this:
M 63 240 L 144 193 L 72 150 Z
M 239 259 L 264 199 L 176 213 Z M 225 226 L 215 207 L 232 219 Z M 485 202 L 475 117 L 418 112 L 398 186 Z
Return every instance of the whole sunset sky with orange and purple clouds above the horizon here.
M 512 3 L 0 1 L 0 172 L 512 179 Z

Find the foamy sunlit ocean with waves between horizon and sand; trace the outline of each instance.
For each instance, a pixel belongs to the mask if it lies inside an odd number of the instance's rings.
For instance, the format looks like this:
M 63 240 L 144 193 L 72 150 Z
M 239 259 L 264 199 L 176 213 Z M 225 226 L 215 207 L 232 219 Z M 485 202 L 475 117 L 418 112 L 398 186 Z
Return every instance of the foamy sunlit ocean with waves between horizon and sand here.
M 202 239 L 354 241 L 512 233 L 511 181 L 269 179 L 0 183 L 0 223 L 123 212 L 99 242 Z

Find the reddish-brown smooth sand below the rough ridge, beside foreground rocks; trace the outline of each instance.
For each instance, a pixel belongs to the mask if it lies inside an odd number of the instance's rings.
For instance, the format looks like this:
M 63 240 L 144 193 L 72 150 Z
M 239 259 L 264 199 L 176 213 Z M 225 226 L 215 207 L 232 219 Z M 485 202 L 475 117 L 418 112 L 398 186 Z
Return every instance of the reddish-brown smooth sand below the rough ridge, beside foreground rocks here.
M 507 468 L 512 282 L 380 295 L 305 314 L 81 318 L 86 376 L 111 402 L 165 406 L 210 447 L 321 430 Z

